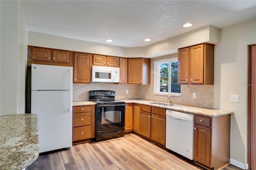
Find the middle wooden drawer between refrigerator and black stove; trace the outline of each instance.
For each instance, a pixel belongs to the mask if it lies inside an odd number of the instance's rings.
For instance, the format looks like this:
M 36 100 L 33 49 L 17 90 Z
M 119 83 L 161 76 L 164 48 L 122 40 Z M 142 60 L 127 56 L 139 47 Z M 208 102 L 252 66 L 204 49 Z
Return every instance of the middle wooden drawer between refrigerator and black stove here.
M 91 113 L 76 113 L 73 114 L 73 127 L 91 125 Z

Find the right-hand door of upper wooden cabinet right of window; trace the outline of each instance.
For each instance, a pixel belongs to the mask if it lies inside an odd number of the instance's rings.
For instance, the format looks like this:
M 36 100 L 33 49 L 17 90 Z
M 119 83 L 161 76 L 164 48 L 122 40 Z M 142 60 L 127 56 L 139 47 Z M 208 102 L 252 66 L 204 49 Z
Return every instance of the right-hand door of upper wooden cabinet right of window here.
M 190 83 L 204 83 L 204 44 L 190 48 Z

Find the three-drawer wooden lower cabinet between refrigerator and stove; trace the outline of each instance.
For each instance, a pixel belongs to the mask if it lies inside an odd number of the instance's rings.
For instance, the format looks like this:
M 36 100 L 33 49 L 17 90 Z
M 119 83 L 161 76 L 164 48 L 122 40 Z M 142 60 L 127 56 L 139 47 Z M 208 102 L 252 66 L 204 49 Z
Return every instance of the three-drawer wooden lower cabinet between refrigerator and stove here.
M 73 106 L 73 143 L 95 138 L 95 105 Z

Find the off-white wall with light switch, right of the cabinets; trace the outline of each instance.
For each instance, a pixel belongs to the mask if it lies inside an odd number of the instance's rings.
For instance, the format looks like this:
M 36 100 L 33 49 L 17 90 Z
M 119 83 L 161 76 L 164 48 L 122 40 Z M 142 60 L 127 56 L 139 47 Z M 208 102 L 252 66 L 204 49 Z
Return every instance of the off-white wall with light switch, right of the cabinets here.
M 234 111 L 231 115 L 230 158 L 244 166 L 248 163 L 247 84 L 250 44 L 256 44 L 256 20 L 220 30 L 220 43 L 214 48 L 214 108 Z M 240 95 L 239 103 L 230 102 L 230 95 Z

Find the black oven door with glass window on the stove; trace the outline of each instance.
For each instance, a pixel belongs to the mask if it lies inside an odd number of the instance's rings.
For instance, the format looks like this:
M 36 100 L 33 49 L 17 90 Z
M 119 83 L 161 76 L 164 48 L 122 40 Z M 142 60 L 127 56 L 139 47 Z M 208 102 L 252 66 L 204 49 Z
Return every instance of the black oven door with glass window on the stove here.
M 124 127 L 123 105 L 97 105 L 96 111 L 96 131 L 111 130 Z

